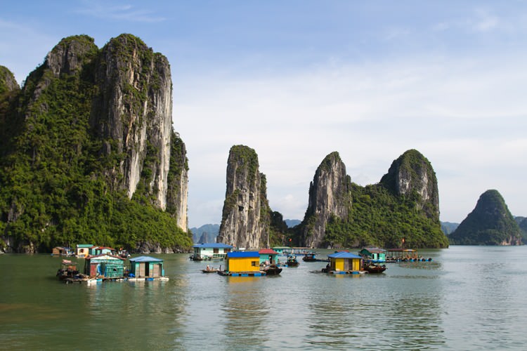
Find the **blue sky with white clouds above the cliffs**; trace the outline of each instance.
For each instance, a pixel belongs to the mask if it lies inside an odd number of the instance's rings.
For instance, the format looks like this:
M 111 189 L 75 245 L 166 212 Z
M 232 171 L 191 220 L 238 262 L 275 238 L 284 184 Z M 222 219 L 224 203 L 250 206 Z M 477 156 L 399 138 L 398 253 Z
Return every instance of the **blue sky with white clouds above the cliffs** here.
M 22 84 L 60 39 L 122 33 L 171 65 L 189 163 L 189 227 L 221 223 L 228 152 L 252 147 L 267 197 L 303 219 L 337 151 L 378 183 L 416 149 L 460 223 L 495 189 L 527 216 L 527 1 L 7 1 L 0 65 Z

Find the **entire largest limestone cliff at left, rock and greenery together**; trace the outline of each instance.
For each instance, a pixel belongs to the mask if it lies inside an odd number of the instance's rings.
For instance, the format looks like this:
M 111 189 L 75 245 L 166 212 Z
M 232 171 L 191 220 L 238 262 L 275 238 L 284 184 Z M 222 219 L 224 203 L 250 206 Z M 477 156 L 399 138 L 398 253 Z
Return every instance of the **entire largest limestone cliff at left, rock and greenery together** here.
M 9 131 L 0 159 L 4 250 L 190 246 L 188 161 L 171 125 L 167 58 L 131 34 L 102 49 L 86 35 L 67 37 L 16 94 L 0 116 Z

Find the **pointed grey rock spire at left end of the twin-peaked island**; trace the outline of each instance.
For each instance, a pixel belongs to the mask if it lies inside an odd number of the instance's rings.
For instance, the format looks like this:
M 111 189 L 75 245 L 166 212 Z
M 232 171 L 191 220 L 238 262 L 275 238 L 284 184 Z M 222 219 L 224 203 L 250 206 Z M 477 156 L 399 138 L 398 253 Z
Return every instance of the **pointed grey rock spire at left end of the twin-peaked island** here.
M 320 247 L 331 216 L 346 219 L 351 206 L 350 180 L 338 152 L 328 154 L 309 185 L 309 202 L 302 232 L 304 246 Z

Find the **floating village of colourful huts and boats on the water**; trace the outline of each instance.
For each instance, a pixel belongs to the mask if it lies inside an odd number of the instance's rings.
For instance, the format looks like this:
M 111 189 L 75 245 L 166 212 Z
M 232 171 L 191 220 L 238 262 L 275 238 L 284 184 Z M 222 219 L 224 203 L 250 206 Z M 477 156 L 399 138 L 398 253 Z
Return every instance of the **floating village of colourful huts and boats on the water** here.
M 164 261 L 151 256 L 131 257 L 125 250 L 92 244 L 78 244 L 76 249 L 56 247 L 53 256 L 84 258 L 84 269 L 78 263 L 63 258 L 57 277 L 65 283 L 96 284 L 100 282 L 167 281 Z M 347 250 L 334 251 L 324 258 L 308 248 L 276 246 L 260 251 L 235 250 L 228 244 L 196 244 L 190 260 L 204 261 L 203 273 L 230 277 L 263 277 L 278 275 L 285 267 L 297 267 L 299 257 L 304 263 L 326 262 L 320 270 L 326 274 L 375 274 L 386 270 L 386 263 L 430 262 L 413 249 L 380 249 L 365 247 L 357 254 Z M 216 267 L 214 267 L 216 263 Z

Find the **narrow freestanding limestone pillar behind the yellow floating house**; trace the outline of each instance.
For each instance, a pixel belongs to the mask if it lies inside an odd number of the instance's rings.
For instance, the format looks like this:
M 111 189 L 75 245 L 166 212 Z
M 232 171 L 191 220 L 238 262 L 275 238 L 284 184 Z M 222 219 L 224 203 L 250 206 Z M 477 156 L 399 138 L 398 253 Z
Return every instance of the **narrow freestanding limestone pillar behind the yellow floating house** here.
M 218 242 L 247 249 L 268 246 L 270 209 L 266 191 L 266 178 L 259 172 L 256 152 L 244 145 L 231 147 Z

